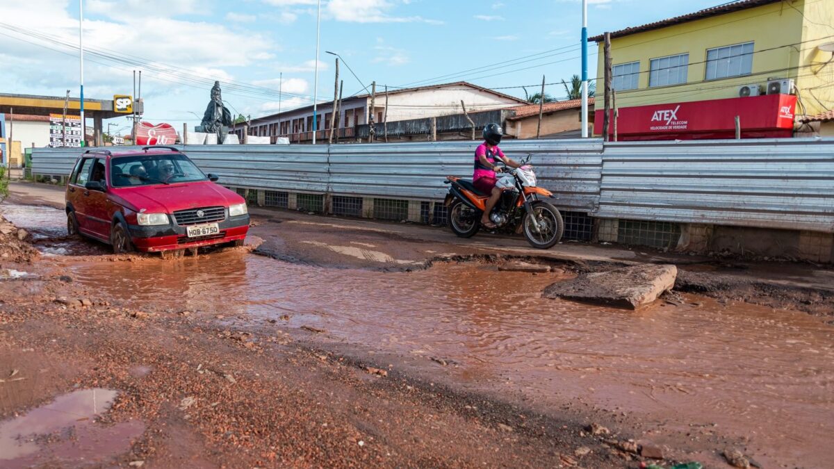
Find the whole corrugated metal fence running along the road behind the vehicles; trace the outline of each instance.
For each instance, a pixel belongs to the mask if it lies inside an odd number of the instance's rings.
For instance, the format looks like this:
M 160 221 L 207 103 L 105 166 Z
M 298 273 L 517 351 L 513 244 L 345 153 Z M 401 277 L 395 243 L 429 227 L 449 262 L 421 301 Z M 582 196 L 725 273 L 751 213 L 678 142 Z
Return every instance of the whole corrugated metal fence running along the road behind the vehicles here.
M 439 200 L 468 177 L 475 143 L 187 145 L 221 183 L 249 189 Z M 834 139 L 603 144 L 511 140 L 561 209 L 595 217 L 834 232 Z M 124 147 L 123 147 L 124 148 Z M 35 149 L 33 174 L 66 175 L 78 149 Z

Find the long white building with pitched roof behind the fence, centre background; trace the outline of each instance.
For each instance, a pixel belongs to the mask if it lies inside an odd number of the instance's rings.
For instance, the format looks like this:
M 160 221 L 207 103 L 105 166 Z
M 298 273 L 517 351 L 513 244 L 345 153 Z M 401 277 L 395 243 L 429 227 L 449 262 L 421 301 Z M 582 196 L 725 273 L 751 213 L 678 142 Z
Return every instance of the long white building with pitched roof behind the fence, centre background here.
M 466 105 L 470 113 L 488 111 L 491 109 L 510 108 L 519 104 L 527 104 L 523 99 L 508 94 L 499 93 L 489 88 L 482 88 L 472 83 L 455 82 L 417 88 L 401 88 L 387 93 L 388 113 L 385 113 L 386 93 L 377 88 L 374 103 L 374 123 L 380 124 L 408 119 L 439 117 L 463 112 L 460 102 Z M 360 94 L 342 100 L 339 111 L 338 136 L 339 139 L 355 139 L 354 127 L 369 124 L 368 117 L 371 106 L 369 94 Z M 319 103 L 317 106 L 319 130 L 316 139 L 326 140 L 330 129 L 333 113 L 333 102 Z M 249 121 L 249 135 L 260 137 L 288 137 L 290 142 L 306 142 L 313 139 L 313 106 L 295 108 L 282 113 L 274 113 Z M 244 125 L 235 126 L 234 133 L 241 141 L 244 136 Z

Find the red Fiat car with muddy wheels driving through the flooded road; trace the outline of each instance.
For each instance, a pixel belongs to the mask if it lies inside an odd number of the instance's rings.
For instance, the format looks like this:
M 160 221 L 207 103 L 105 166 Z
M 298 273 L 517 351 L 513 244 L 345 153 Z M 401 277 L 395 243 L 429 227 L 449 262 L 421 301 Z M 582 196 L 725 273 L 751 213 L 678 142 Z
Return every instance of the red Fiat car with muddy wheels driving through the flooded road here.
M 114 253 L 242 245 L 246 201 L 217 179 L 173 147 L 87 150 L 67 184 L 67 231 Z

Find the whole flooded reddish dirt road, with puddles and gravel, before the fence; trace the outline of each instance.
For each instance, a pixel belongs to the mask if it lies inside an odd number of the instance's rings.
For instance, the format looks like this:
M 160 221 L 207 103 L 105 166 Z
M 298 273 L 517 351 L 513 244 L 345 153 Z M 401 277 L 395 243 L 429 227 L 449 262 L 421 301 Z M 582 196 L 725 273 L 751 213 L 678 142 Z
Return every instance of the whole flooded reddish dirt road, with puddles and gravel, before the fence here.
M 63 236 L 61 200 L 16 184 L 0 205 L 29 232 L 0 238 L 0 466 L 834 456 L 831 270 L 598 245 L 542 253 L 262 209 L 247 249 L 116 257 Z M 496 268 L 516 258 L 551 271 Z M 639 312 L 540 298 L 638 261 L 678 265 L 676 294 Z

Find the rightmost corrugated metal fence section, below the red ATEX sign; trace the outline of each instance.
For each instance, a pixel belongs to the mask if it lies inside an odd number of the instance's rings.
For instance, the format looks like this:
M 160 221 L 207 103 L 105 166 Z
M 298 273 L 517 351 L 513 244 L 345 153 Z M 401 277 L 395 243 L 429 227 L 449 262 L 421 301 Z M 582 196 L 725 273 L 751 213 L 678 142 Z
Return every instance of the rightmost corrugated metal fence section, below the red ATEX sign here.
M 834 232 L 834 139 L 605 144 L 595 215 Z

